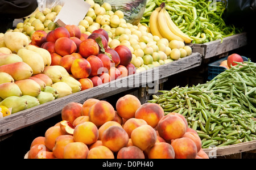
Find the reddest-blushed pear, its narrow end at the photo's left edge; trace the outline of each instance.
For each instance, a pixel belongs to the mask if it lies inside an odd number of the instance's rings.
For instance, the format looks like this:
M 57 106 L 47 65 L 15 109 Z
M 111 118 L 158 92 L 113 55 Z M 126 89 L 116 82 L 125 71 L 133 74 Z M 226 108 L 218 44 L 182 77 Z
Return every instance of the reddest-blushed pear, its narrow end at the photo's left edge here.
M 15 81 L 30 78 L 33 74 L 33 70 L 25 62 L 15 62 L 8 65 L 2 65 L 0 66 L 0 72 L 10 74 Z

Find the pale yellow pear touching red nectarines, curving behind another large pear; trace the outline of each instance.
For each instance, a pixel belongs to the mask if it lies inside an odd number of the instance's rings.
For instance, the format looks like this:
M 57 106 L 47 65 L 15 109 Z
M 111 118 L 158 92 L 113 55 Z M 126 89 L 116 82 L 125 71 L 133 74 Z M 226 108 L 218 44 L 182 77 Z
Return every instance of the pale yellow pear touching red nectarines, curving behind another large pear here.
M 45 67 L 51 65 L 52 58 L 51 58 L 51 54 L 48 52 L 48 50 L 43 49 L 43 48 L 38 48 L 35 45 L 28 45 L 26 47 L 26 49 L 40 54 L 40 56 L 43 58 Z

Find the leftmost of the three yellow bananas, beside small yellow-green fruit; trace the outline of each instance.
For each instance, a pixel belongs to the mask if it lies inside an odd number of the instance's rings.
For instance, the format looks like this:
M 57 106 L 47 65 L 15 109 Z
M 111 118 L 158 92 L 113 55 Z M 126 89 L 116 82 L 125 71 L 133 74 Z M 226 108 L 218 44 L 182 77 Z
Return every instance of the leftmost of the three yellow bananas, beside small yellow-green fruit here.
M 149 26 L 150 26 L 150 32 L 152 33 L 152 35 L 159 36 L 159 38 L 162 39 L 163 36 L 161 35 L 161 33 L 159 32 L 159 29 L 158 29 L 158 13 L 160 10 L 161 10 L 161 7 L 157 7 L 152 12 L 152 14 L 150 16 Z

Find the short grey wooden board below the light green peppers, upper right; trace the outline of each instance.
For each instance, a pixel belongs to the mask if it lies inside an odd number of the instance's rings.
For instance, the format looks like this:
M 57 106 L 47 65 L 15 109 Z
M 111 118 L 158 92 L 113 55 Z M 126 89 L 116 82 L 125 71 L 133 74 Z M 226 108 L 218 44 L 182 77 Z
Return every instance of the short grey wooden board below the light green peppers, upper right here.
M 231 50 L 241 48 L 247 45 L 247 33 L 225 37 L 223 41 L 216 40 L 204 44 L 192 44 L 192 51 L 203 55 L 204 59 L 215 57 Z

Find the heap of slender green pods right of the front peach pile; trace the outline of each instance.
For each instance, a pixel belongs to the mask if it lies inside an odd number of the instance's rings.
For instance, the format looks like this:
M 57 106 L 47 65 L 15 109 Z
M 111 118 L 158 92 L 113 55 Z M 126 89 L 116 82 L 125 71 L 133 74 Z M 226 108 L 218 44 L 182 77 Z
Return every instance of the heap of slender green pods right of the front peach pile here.
M 243 66 L 243 67 L 238 67 Z M 193 87 L 175 87 L 149 100 L 166 114 L 176 112 L 197 131 L 202 147 L 221 147 L 256 140 L 256 64 L 238 66 Z

